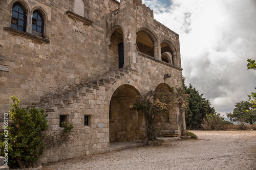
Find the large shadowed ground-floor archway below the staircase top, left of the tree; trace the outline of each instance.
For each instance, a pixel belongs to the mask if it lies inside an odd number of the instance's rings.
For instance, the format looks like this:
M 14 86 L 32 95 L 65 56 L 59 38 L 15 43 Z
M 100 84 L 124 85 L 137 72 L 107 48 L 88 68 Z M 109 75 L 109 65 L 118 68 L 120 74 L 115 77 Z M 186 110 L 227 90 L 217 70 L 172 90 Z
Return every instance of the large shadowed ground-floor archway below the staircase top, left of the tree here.
M 121 85 L 110 101 L 110 142 L 144 139 L 143 114 L 130 110 L 137 100 L 138 90 L 131 85 Z

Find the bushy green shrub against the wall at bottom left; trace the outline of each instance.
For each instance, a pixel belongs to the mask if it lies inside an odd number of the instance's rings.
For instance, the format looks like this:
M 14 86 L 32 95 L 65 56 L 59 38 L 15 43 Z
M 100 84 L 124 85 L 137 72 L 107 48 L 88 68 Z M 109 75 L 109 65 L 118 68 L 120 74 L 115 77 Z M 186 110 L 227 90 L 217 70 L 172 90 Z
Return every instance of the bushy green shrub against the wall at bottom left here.
M 12 96 L 8 127 L 8 165 L 11 167 L 33 167 L 46 148 L 45 139 L 48 130 L 47 114 L 44 109 L 35 108 L 26 111 L 19 107 L 19 100 Z M 3 143 L 1 144 L 2 152 Z M 2 153 L 5 154 L 5 153 Z

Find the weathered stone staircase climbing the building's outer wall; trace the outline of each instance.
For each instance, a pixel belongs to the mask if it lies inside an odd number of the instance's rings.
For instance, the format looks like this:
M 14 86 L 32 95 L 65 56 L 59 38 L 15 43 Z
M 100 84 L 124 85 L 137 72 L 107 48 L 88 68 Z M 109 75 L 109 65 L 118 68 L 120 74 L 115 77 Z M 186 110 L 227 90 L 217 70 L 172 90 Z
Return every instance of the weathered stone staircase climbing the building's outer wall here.
M 74 100 L 81 100 L 83 95 L 93 93 L 94 89 L 99 90 L 100 86 L 104 86 L 105 90 L 109 90 L 110 85 L 114 84 L 117 80 L 131 78 L 131 71 L 137 72 L 137 70 L 130 67 L 107 72 L 102 76 L 98 76 L 87 81 L 86 83 L 77 85 L 74 89 L 55 94 L 50 98 L 45 98 L 42 101 L 29 106 L 29 108 L 44 107 L 46 112 L 56 112 L 57 108 L 63 108 L 65 104 L 73 103 Z

